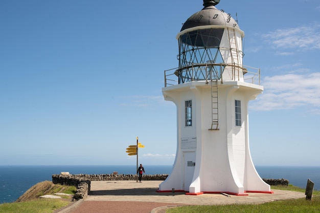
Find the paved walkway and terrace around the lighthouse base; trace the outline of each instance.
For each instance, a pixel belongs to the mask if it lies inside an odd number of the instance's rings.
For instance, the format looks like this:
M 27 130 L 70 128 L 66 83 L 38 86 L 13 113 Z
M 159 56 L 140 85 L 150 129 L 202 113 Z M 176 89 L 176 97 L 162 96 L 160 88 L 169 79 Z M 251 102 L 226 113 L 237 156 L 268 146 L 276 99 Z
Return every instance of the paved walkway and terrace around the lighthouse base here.
M 88 212 L 88 209 L 90 212 L 165 212 L 161 206 L 259 204 L 275 200 L 305 198 L 304 193 L 283 190 L 274 190 L 274 194 L 248 193 L 248 196 L 221 194 L 193 196 L 181 192 L 158 193 L 156 190 L 161 182 L 92 181 L 88 197 L 81 203 L 74 204 L 75 207 L 71 206 L 61 212 Z M 115 205 L 116 209 L 111 209 L 112 205 Z M 125 205 L 129 205 L 129 208 L 126 208 Z M 151 207 L 144 211 L 142 206 Z

